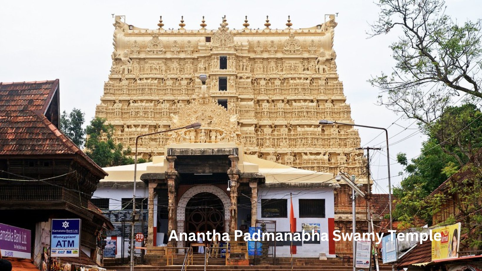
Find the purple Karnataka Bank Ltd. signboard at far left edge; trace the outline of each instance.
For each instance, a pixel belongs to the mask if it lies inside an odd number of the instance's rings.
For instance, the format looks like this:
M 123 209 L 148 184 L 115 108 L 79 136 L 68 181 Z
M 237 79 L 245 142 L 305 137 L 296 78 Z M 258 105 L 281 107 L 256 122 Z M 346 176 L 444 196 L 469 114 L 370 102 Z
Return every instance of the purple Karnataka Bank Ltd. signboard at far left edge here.
M 0 249 L 2 257 L 31 258 L 30 231 L 0 223 Z

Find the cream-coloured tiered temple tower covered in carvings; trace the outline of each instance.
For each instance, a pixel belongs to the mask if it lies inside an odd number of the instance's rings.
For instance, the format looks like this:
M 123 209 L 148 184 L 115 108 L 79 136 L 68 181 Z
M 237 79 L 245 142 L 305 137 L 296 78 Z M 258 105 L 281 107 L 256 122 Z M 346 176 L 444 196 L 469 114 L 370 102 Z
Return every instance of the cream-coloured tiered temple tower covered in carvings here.
M 356 129 L 319 125 L 352 122 L 333 50 L 335 17 L 318 26 L 215 30 L 129 26 L 116 16 L 112 68 L 96 116 L 134 149 L 140 134 L 190 124 L 225 123 L 141 138 L 139 155 L 164 155 L 171 142 L 237 142 L 245 152 L 296 168 L 359 174 Z M 207 74 L 201 91 L 200 74 Z M 209 98 L 210 97 L 210 98 Z M 228 114 L 222 114 L 223 112 Z

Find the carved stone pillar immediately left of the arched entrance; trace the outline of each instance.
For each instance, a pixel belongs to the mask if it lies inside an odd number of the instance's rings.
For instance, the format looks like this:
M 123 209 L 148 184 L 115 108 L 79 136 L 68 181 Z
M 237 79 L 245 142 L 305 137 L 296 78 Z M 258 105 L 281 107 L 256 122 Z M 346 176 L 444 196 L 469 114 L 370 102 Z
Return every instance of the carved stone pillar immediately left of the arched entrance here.
M 168 195 L 168 230 L 167 230 L 167 237 L 171 236 L 171 232 L 176 230 L 177 226 L 177 216 L 176 216 L 176 206 L 177 206 L 177 189 L 176 189 L 176 182 L 177 182 L 177 171 L 174 169 L 174 161 L 176 156 L 167 156 L 166 160 L 168 161 L 169 165 L 166 170 L 166 179 L 167 179 L 167 195 Z M 175 246 L 176 244 L 174 241 L 169 241 L 169 246 Z

